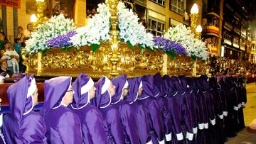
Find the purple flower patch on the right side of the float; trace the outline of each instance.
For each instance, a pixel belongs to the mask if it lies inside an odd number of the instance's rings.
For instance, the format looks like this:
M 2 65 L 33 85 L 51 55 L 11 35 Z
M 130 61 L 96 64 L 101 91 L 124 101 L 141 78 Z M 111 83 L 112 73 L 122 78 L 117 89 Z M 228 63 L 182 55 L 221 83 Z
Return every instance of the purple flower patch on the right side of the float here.
M 154 37 L 154 45 L 164 52 L 176 52 L 178 54 L 187 55 L 186 49 L 181 43 L 162 38 L 160 36 Z

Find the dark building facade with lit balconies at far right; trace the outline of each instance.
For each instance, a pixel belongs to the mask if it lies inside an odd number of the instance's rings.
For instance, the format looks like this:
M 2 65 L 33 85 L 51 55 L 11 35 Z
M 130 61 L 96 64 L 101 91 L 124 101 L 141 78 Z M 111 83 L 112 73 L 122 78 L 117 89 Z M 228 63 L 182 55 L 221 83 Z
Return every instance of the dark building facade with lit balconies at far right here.
M 221 55 L 234 60 L 248 60 L 251 43 L 248 24 L 247 7 L 242 1 L 223 1 Z

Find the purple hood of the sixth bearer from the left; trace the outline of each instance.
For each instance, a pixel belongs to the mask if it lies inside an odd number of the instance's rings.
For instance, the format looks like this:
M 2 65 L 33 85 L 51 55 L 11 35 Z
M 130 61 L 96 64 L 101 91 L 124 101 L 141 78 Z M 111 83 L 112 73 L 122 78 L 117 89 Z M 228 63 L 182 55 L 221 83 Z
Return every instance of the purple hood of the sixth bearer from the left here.
M 124 98 L 124 101 L 127 101 L 129 104 L 132 104 L 138 98 L 139 87 L 142 87 L 142 78 L 134 77 L 134 78 L 128 79 L 128 83 L 129 83 L 129 92 L 127 96 Z

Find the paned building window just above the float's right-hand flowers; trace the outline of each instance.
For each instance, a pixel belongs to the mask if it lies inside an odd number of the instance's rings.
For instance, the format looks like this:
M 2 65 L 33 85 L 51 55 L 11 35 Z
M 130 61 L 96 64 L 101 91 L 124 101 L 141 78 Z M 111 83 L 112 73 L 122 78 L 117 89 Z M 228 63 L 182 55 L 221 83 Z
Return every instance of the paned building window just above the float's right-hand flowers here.
M 149 33 L 153 35 L 163 35 L 165 30 L 165 23 L 154 18 L 149 18 Z

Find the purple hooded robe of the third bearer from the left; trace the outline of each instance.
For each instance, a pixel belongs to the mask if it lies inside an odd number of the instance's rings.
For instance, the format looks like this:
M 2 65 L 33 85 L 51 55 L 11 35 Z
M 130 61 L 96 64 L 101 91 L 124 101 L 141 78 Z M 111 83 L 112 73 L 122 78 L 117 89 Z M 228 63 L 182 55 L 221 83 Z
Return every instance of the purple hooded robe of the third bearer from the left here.
M 76 113 L 81 122 L 83 143 L 107 143 L 107 135 L 103 127 L 103 117 L 100 110 L 90 104 L 89 91 L 94 87 L 94 82 L 86 74 L 73 82 L 74 101 L 70 109 Z

